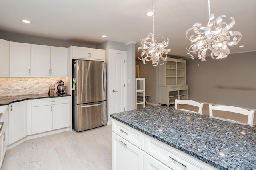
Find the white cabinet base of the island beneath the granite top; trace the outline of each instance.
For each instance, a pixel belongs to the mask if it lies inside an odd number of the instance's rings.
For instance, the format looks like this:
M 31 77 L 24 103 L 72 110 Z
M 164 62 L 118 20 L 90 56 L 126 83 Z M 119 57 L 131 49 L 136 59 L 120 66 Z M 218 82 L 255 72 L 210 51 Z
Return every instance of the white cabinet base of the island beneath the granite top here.
M 141 141 L 144 141 L 144 145 L 140 145 Z M 112 119 L 112 170 L 120 169 L 217 170 L 189 154 Z

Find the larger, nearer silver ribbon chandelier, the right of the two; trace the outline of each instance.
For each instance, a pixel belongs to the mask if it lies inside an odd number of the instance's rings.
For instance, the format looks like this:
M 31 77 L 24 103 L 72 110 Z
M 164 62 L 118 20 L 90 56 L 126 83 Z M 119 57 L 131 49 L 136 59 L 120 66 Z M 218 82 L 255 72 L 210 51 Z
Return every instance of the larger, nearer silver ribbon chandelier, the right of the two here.
M 242 34 L 238 31 L 228 31 L 235 24 L 234 17 L 230 24 L 222 21 L 226 18 L 225 15 L 218 16 L 214 19 L 214 14 L 210 14 L 210 0 L 208 0 L 209 22 L 207 27 L 202 26 L 200 23 L 195 23 L 193 27 L 186 31 L 186 37 L 191 41 L 191 46 L 186 49 L 192 59 L 206 60 L 206 51 L 211 51 L 213 59 L 223 59 L 228 56 L 230 50 L 228 46 L 237 45 L 242 39 Z M 194 31 L 194 34 L 188 37 L 188 32 Z M 198 57 L 194 57 L 191 53 L 198 53 Z

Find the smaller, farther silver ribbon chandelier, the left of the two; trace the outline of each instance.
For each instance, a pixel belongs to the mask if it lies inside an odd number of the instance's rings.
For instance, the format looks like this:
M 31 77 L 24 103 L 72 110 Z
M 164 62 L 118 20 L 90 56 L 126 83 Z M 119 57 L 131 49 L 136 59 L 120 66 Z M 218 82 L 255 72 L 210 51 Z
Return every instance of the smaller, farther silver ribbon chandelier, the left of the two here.
M 154 37 L 154 2 L 152 0 L 152 6 L 153 6 L 153 33 L 149 33 L 148 37 L 144 39 L 140 39 L 141 47 L 138 47 L 138 52 L 141 49 L 141 58 L 140 60 L 143 61 L 143 64 L 146 64 L 146 61 L 152 61 L 152 64 L 154 66 L 157 66 L 159 64 L 159 59 L 162 59 L 163 61 L 166 61 L 167 59 L 167 53 L 170 52 L 170 49 L 165 49 L 165 47 L 169 44 L 169 39 L 167 38 L 165 41 L 165 38 L 158 34 L 156 37 Z M 158 42 L 157 39 L 162 39 L 162 42 Z M 163 56 L 164 55 L 164 56 Z M 164 64 L 164 63 L 162 63 Z M 159 64 L 159 65 L 162 65 Z

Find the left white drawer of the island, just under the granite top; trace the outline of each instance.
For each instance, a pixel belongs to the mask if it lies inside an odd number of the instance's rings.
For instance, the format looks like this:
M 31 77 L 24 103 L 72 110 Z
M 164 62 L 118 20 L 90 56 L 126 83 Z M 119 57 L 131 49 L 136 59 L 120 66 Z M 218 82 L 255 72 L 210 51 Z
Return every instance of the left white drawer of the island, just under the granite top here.
M 144 133 L 112 119 L 112 131 L 136 147 L 144 150 Z

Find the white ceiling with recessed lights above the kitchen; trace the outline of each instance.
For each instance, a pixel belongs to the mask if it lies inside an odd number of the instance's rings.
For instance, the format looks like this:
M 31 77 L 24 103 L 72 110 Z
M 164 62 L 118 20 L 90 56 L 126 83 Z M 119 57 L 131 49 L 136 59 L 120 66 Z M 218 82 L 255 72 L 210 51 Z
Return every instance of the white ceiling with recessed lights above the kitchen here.
M 137 49 L 152 32 L 152 17 L 145 15 L 151 10 L 151 0 L 0 0 L 0 31 L 93 45 L 135 41 Z M 154 0 L 154 10 L 155 35 L 170 39 L 168 55 L 188 57 L 185 32 L 196 22 L 207 25 L 208 0 Z M 228 24 L 235 18 L 230 31 L 242 33 L 238 45 L 245 47 L 231 46 L 231 53 L 256 51 L 256 0 L 211 0 L 210 12 L 226 15 Z

